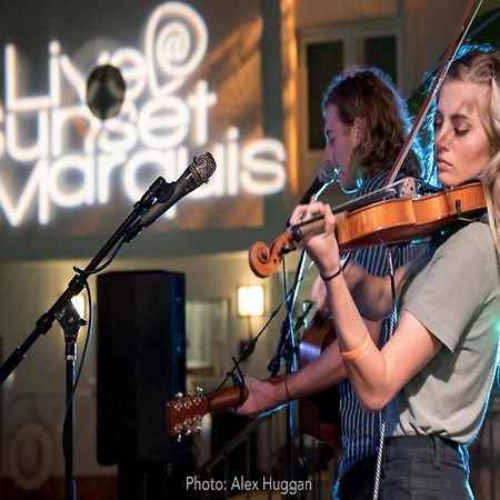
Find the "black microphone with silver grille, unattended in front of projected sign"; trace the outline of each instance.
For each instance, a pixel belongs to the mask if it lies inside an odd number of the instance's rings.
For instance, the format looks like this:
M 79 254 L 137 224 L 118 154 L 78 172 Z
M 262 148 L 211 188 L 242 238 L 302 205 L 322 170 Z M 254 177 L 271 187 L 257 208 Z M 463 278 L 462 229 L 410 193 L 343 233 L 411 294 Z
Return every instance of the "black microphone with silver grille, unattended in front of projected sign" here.
M 143 228 L 151 226 L 181 198 L 199 188 L 202 183 L 208 182 L 216 168 L 216 160 L 208 151 L 199 157 L 194 157 L 176 182 L 166 183 L 162 191 L 158 194 L 157 201 L 126 232 L 124 240 L 127 242 L 132 240 Z

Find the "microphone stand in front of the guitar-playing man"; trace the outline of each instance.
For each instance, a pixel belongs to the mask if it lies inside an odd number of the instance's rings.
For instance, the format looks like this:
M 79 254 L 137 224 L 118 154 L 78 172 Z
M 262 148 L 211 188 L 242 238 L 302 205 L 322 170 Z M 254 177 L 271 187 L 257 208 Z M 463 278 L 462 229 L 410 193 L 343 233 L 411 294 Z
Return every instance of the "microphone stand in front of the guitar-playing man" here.
M 337 180 L 339 171 L 333 171 L 333 178 L 324 183 L 316 193 L 318 198 L 331 183 Z M 299 293 L 299 283 L 303 279 L 303 269 L 306 262 L 306 251 L 301 250 L 299 262 L 296 269 L 296 276 L 293 279 L 292 290 L 293 293 L 287 300 L 287 316 L 281 323 L 280 330 L 280 341 L 278 344 L 277 353 L 272 358 L 271 362 L 268 366 L 268 371 L 270 371 L 271 377 L 276 377 L 280 370 L 281 359 L 284 360 L 286 373 L 293 373 L 297 371 L 298 366 L 298 346 L 296 343 L 296 328 L 293 326 L 292 313 L 296 308 L 297 296 Z M 288 293 L 287 287 L 287 276 L 283 273 L 283 286 L 284 286 L 284 294 Z M 294 429 L 296 429 L 296 401 L 289 401 L 287 403 L 287 480 L 293 480 L 293 443 L 294 443 Z M 303 434 L 299 434 L 299 461 L 301 466 L 301 473 L 306 476 L 307 473 L 307 463 L 306 463 L 306 453 L 303 449 Z M 304 494 L 304 493 L 302 493 Z M 286 499 L 291 499 L 291 494 L 289 492 L 286 493 Z

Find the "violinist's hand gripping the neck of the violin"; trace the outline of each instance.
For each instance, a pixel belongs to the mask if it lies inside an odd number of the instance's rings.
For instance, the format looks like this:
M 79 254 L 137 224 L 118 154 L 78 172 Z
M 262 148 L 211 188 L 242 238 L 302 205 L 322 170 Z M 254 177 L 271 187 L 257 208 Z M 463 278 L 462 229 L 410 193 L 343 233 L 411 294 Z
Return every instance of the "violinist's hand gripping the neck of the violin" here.
M 308 233 L 307 226 L 302 228 L 301 244 L 316 262 L 320 274 L 331 276 L 340 268 L 339 246 L 334 233 L 336 218 L 328 204 L 312 201 L 309 204 L 299 204 L 290 217 L 291 224 L 307 222 L 314 216 L 324 217 L 323 232 Z

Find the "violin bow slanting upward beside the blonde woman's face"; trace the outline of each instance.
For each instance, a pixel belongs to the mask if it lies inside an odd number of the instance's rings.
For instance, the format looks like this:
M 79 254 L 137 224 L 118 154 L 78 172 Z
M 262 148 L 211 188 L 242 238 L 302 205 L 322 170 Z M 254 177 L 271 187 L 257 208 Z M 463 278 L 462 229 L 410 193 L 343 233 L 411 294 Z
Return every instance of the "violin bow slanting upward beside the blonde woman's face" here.
M 476 7 L 476 10 L 472 16 L 470 13 L 472 12 L 474 0 L 468 0 L 466 8 L 463 10 L 462 19 L 460 19 L 459 24 L 454 29 L 453 37 L 451 39 L 451 43 L 448 47 L 447 52 L 444 53 L 442 58 L 441 66 L 438 70 L 438 73 L 436 74 L 434 81 L 432 82 L 431 89 L 429 90 L 429 93 L 427 94 L 422 107 L 420 108 L 420 111 L 418 112 L 413 127 L 410 130 L 410 133 L 408 134 L 408 138 L 399 151 L 398 158 L 394 161 L 394 164 L 391 168 L 391 171 L 389 172 L 388 178 L 386 179 L 384 186 L 391 184 L 396 176 L 398 176 L 399 171 L 401 170 L 401 167 L 407 159 L 408 153 L 410 152 L 411 144 L 413 143 L 414 138 L 419 133 L 423 119 L 426 118 L 427 113 L 429 112 L 429 109 L 431 107 L 432 100 L 436 98 L 437 93 L 439 92 L 439 89 L 441 88 L 442 82 L 444 81 L 444 77 L 448 73 L 448 70 L 450 69 L 451 63 L 453 62 L 453 59 L 457 57 L 458 51 L 460 50 L 460 47 L 463 43 L 463 40 L 467 37 L 467 33 L 469 32 L 469 29 L 476 19 L 476 16 L 479 12 L 479 9 L 482 6 L 483 0 L 479 0 L 478 6 Z M 467 20 L 469 19 L 469 23 L 466 27 Z

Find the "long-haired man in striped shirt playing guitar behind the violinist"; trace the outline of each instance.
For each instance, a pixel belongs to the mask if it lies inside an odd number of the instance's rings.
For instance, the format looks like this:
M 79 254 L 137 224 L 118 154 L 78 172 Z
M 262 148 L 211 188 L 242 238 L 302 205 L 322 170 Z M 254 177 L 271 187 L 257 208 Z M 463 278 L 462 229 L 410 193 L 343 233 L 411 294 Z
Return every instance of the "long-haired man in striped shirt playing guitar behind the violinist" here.
M 352 188 L 363 174 L 357 196 L 382 188 L 398 152 L 404 144 L 409 119 L 404 103 L 390 79 L 373 67 L 352 67 L 336 76 L 323 99 L 324 160 L 339 171 L 343 188 Z M 401 177 L 419 177 L 420 166 L 411 152 L 403 164 Z M 424 246 L 398 244 L 392 250 L 394 268 L 420 254 Z M 361 249 L 353 262 L 373 276 L 388 273 L 387 249 Z M 321 302 L 327 302 L 322 282 L 314 287 Z M 324 300 L 323 300 L 324 299 Z M 319 307 L 319 300 L 314 300 Z M 327 314 L 328 308 L 327 308 Z M 318 312 L 319 314 L 319 312 Z M 374 341 L 380 344 L 389 337 L 389 320 L 370 323 Z M 340 500 L 371 500 L 380 413 L 368 413 L 359 404 L 346 369 L 333 341 L 317 359 L 276 387 L 268 382 L 246 379 L 249 397 L 242 413 L 257 413 L 281 404 L 291 398 L 303 397 L 338 384 L 341 420 L 342 461 L 336 483 L 336 498 Z M 287 387 L 290 390 L 287 390 Z M 331 401 L 331 404 L 336 404 Z

